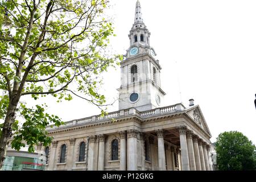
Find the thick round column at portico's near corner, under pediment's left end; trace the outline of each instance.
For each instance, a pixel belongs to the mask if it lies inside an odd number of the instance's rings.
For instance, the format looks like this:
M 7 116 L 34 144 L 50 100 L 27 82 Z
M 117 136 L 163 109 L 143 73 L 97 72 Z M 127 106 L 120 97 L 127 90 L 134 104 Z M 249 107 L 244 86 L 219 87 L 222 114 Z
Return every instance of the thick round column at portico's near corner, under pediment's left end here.
M 178 127 L 178 129 L 180 133 L 182 170 L 189 171 L 188 147 L 187 147 L 187 137 L 186 137 L 187 127 L 181 126 L 181 127 Z

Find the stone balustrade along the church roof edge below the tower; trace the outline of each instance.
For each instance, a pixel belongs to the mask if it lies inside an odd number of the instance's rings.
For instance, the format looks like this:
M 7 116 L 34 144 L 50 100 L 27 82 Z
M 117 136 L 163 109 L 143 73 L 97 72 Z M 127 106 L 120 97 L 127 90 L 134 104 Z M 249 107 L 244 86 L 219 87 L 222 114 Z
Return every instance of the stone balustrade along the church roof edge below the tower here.
M 126 109 L 126 110 L 119 110 L 119 111 L 105 114 L 104 117 L 102 117 L 101 115 L 94 115 L 94 116 L 88 117 L 88 118 L 82 118 L 82 119 L 76 119 L 73 121 L 68 121 L 68 122 L 65 122 L 63 125 L 60 125 L 59 127 L 57 127 L 55 125 L 49 125 L 46 127 L 46 130 L 55 130 L 55 129 L 63 129 L 65 127 L 86 125 L 89 123 L 108 121 L 109 119 L 112 119 L 112 118 L 116 119 L 116 118 L 126 117 L 126 116 L 130 116 L 130 115 L 137 115 L 141 118 L 148 118 L 148 117 L 152 117 L 154 115 L 175 113 L 177 111 L 182 111 L 184 109 L 185 109 L 185 107 L 183 106 L 183 104 L 175 104 L 172 106 L 160 107 L 160 108 L 151 109 L 151 110 L 147 110 L 147 111 L 138 111 L 135 108 L 130 108 L 130 109 Z

